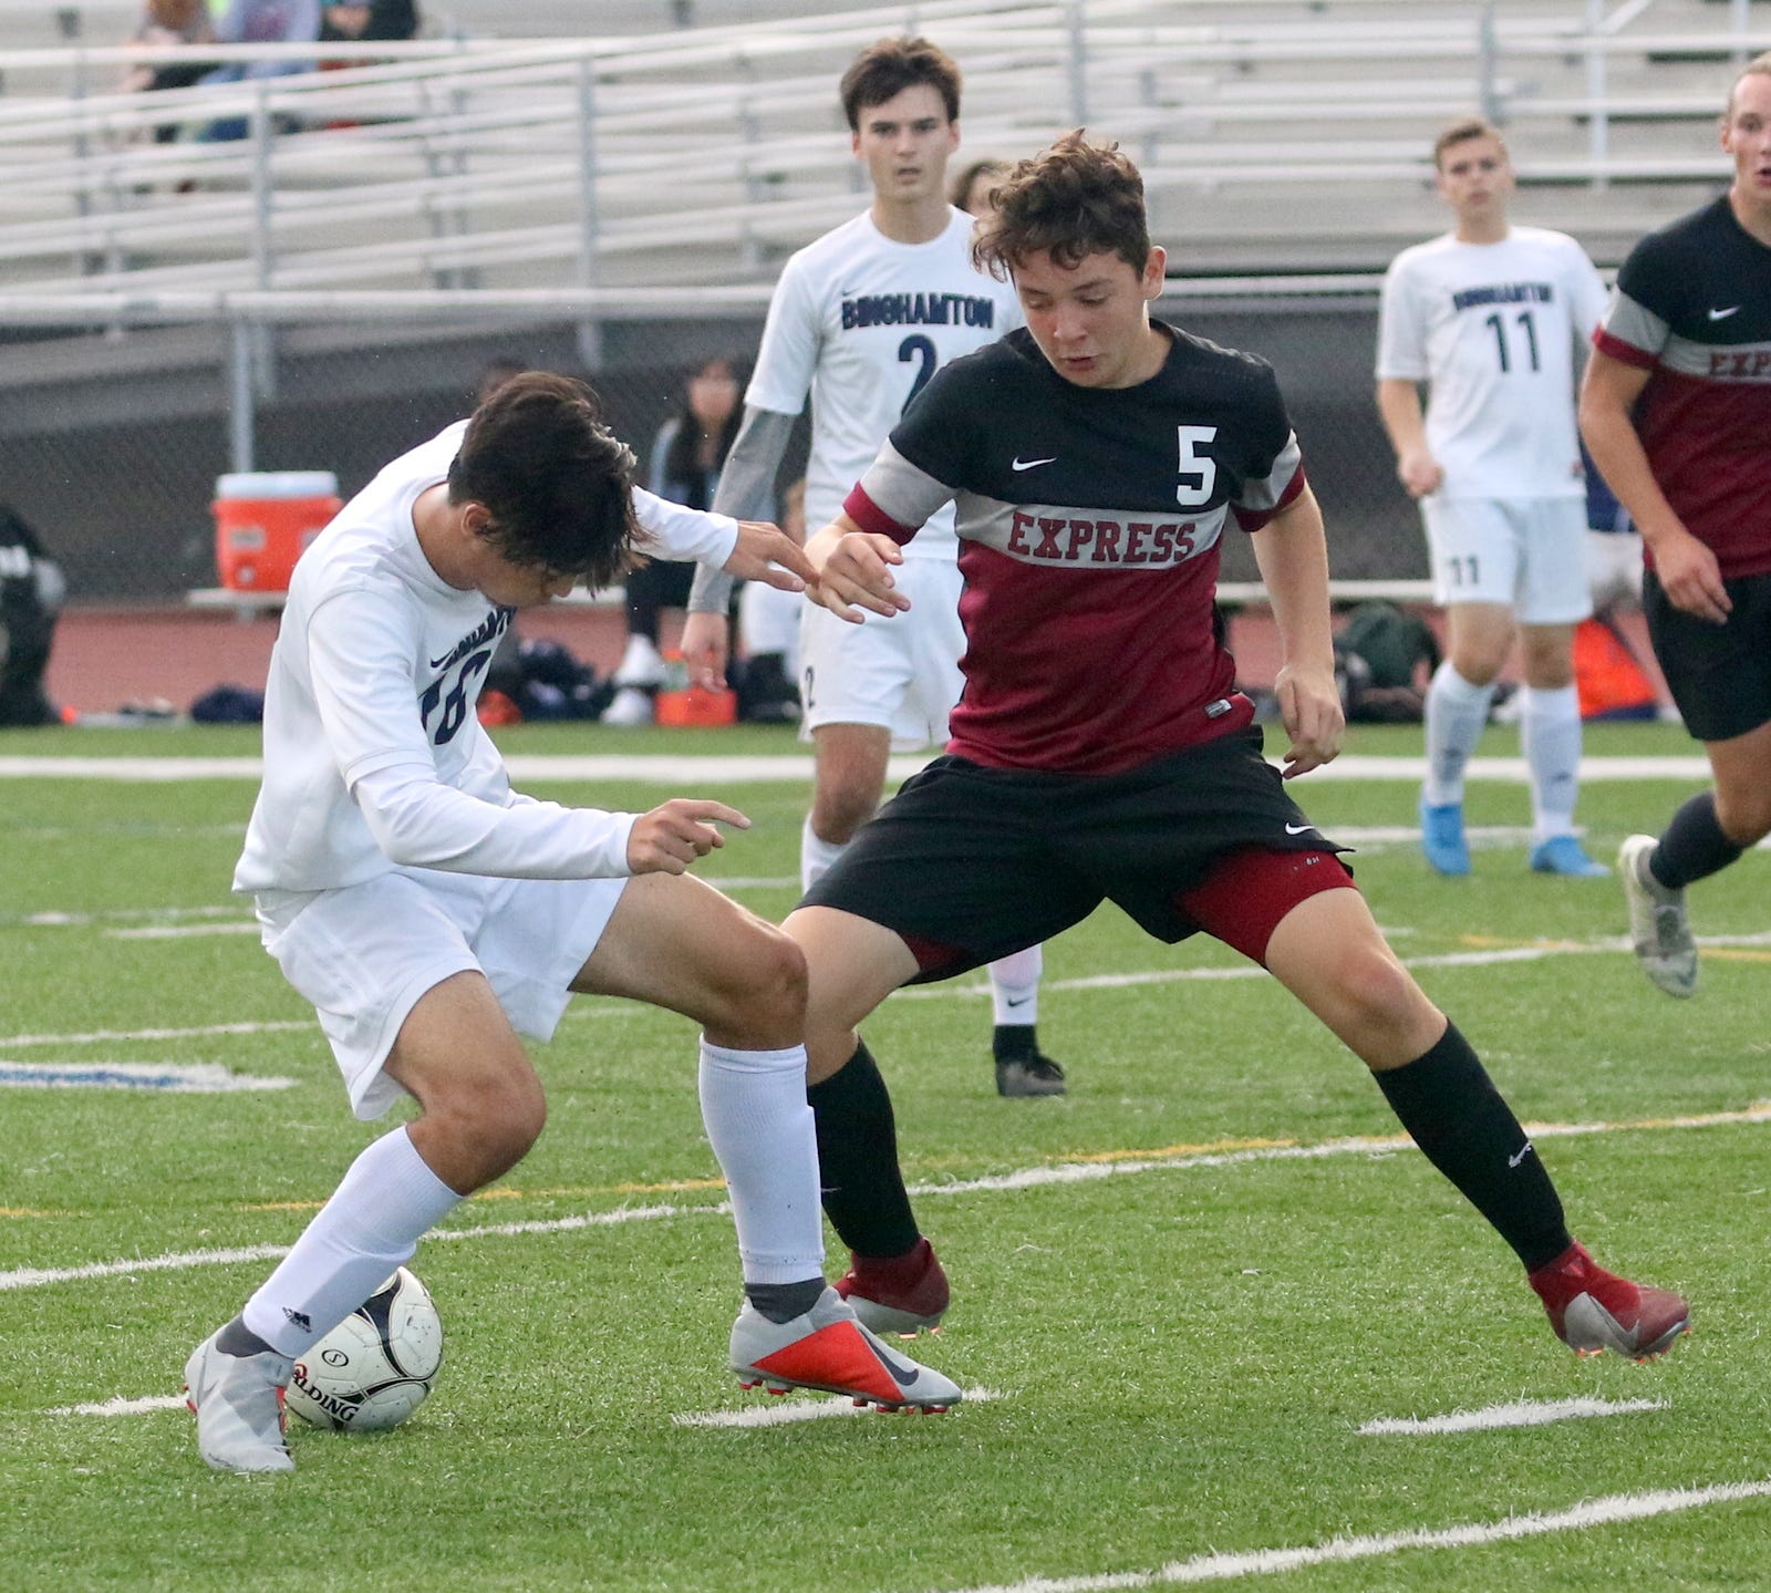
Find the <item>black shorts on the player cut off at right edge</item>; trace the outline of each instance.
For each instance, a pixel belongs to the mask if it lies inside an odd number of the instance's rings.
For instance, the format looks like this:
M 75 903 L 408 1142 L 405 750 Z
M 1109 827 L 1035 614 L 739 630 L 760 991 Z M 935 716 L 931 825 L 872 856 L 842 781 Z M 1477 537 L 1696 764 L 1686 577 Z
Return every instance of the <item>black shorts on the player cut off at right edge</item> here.
M 1714 626 L 1674 608 L 1654 571 L 1642 576 L 1654 657 L 1698 741 L 1732 741 L 1771 721 L 1771 574 L 1723 585 L 1734 610 Z

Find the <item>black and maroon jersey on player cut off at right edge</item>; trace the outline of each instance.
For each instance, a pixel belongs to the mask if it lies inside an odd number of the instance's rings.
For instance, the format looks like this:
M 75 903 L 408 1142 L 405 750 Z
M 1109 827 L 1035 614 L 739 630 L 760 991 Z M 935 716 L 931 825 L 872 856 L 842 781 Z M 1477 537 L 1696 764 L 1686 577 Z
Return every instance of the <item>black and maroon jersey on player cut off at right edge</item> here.
M 1727 195 L 1629 252 L 1592 340 L 1652 372 L 1636 434 L 1686 530 L 1725 579 L 1771 571 L 1771 248 Z

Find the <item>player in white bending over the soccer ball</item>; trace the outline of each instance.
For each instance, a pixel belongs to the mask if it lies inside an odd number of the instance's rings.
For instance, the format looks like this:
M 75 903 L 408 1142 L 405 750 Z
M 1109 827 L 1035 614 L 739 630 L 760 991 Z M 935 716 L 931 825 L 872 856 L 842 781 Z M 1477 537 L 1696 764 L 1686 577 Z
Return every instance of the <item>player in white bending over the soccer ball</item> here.
M 825 1286 L 800 953 L 684 872 L 744 815 L 687 797 L 636 815 L 517 796 L 475 716 L 512 613 L 579 579 L 607 585 L 636 546 L 776 583 L 806 569 L 774 526 L 634 491 L 632 466 L 588 388 L 515 376 L 383 470 L 296 569 L 234 888 L 313 1003 L 356 1115 L 411 1095 L 418 1116 L 352 1162 L 241 1315 L 193 1352 L 197 1444 L 218 1471 L 292 1469 L 292 1363 L 535 1143 L 545 1102 L 515 1031 L 549 1037 L 574 991 L 703 1024 L 701 1113 L 744 1260 L 740 1380 L 951 1403 L 946 1379 L 877 1352 Z

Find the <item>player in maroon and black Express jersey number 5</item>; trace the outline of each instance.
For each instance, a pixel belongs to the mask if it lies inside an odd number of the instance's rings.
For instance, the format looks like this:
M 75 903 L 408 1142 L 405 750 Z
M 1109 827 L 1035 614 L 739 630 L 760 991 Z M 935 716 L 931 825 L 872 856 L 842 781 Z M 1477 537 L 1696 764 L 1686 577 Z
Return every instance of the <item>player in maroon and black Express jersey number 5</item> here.
M 1263 964 L 1367 1067 L 1427 1159 L 1525 1263 L 1576 1350 L 1652 1356 L 1675 1294 L 1597 1267 L 1482 1063 L 1406 973 L 1284 778 L 1342 719 L 1321 512 L 1270 365 L 1153 322 L 1165 257 L 1142 179 L 1080 133 L 997 190 L 976 245 L 1027 326 L 939 372 L 806 553 L 841 618 L 903 613 L 903 544 L 958 505 L 965 696 L 909 780 L 786 920 L 806 952 L 825 1210 L 850 1301 L 928 1325 L 940 1263 L 854 1026 L 898 985 L 1054 936 L 1102 900 L 1160 941 L 1204 930 Z M 1226 533 L 1254 539 L 1284 663 L 1284 778 L 1217 641 Z M 877 624 L 878 620 L 875 620 Z M 898 624 L 886 618 L 886 624 Z

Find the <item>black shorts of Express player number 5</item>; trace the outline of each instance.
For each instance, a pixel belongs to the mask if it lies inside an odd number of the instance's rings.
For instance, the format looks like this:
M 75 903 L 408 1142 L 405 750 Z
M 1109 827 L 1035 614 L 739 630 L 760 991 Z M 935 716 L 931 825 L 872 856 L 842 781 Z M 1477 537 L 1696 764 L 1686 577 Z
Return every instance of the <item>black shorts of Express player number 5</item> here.
M 1125 774 L 986 769 L 910 776 L 802 907 L 884 925 L 949 978 L 1048 941 L 1103 900 L 1158 941 L 1201 930 L 1178 900 L 1231 852 L 1342 852 L 1303 817 L 1250 727 Z M 1328 863 L 1328 858 L 1323 858 Z M 1330 863 L 1337 882 L 1346 872 Z

